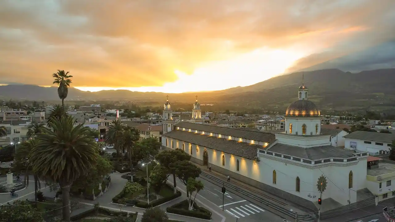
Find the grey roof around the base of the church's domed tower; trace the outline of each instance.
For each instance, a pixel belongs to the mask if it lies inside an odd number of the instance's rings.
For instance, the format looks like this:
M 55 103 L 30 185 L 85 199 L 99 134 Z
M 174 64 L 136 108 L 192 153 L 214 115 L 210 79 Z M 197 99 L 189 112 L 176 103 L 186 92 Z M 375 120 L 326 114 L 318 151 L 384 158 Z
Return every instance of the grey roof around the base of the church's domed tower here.
M 319 146 L 311 148 L 295 147 L 282 143 L 277 143 L 270 147 L 268 151 L 277 152 L 289 156 L 296 156 L 308 160 L 320 160 L 325 158 L 350 158 L 354 157 L 352 151 L 333 146 Z

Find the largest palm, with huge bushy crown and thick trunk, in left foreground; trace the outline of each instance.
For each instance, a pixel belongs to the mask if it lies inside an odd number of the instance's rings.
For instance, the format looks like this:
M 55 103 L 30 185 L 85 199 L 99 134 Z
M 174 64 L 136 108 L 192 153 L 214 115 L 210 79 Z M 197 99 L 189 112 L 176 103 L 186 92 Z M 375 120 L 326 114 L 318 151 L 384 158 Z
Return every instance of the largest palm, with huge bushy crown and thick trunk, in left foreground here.
M 37 134 L 40 141 L 30 155 L 33 171 L 62 189 L 63 220 L 70 221 L 70 187 L 87 175 L 97 162 L 99 148 L 82 124 L 74 126 L 72 117 L 51 119 L 49 128 Z

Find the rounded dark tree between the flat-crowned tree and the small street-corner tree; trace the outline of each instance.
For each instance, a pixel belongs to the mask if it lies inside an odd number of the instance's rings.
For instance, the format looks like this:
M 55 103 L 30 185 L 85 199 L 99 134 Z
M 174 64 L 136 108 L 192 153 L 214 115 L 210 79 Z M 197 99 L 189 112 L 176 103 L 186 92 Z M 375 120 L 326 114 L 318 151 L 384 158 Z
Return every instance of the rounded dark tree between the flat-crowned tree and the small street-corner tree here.
M 171 165 L 173 165 L 173 167 L 176 169 L 178 179 L 180 179 L 180 181 L 183 182 L 185 186 L 188 182 L 188 179 L 196 179 L 201 173 L 201 169 L 199 167 L 187 160 L 178 161 L 172 163 Z M 186 192 L 186 196 L 189 196 L 189 192 Z

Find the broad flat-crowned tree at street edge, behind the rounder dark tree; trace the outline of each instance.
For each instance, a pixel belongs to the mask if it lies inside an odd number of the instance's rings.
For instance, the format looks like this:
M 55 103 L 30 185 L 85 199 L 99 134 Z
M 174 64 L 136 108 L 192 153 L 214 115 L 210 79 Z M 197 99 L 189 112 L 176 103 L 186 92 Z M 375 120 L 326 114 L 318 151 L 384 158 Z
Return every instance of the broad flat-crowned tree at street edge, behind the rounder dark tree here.
M 191 156 L 181 149 L 175 149 L 170 151 L 163 151 L 156 155 L 156 160 L 167 169 L 167 171 L 173 175 L 174 193 L 177 192 L 177 169 L 174 167 L 174 163 L 178 161 L 189 161 Z

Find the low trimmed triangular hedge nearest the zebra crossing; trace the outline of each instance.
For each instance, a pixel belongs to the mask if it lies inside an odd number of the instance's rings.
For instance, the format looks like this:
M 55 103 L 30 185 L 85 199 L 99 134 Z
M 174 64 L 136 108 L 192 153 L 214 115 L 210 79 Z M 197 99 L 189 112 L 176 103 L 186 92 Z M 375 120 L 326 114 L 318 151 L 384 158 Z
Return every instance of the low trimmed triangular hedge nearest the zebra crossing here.
M 167 207 L 166 211 L 167 213 L 192 216 L 200 219 L 211 220 L 211 211 L 203 207 L 199 207 L 198 205 L 196 205 L 196 203 L 194 203 L 194 208 L 196 209 L 195 211 L 189 211 L 188 200 L 183 200 L 180 203 L 176 203 L 171 207 Z

